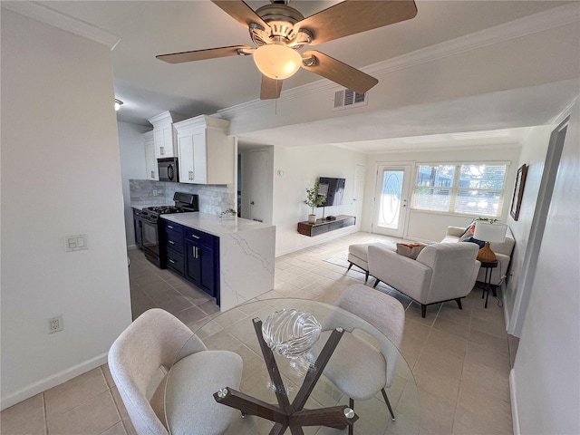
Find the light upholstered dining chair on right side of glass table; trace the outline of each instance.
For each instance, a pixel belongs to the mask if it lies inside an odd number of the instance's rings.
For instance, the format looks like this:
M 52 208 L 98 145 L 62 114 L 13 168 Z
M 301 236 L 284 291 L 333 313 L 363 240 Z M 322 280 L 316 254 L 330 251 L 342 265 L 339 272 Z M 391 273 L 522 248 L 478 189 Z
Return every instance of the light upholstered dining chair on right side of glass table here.
M 355 400 L 367 401 L 381 391 L 391 419 L 395 420 L 386 389 L 393 381 L 405 326 L 402 304 L 390 295 L 366 285 L 355 284 L 344 290 L 337 305 L 364 322 L 340 313 L 331 314 L 324 321 L 324 332 L 314 345 L 315 355 L 322 351 L 334 328 L 342 327 L 345 331 L 324 368 L 324 375 L 349 397 L 352 409 Z M 369 328 L 368 324 L 376 329 Z M 378 348 L 360 338 L 362 335 L 357 334 L 357 331 L 372 335 L 378 342 Z

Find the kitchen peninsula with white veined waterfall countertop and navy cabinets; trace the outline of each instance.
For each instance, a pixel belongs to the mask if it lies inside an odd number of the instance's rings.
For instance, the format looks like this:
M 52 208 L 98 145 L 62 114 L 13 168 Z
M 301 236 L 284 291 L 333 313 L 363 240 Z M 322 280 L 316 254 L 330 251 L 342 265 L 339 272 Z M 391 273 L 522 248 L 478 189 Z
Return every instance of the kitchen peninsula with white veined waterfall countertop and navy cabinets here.
M 216 286 L 220 311 L 244 304 L 274 288 L 274 226 L 199 212 L 169 214 L 162 219 L 166 227 L 173 227 L 172 223 L 184 228 L 188 258 L 195 260 L 203 255 L 204 241 L 215 246 L 218 253 L 213 266 L 218 267 Z

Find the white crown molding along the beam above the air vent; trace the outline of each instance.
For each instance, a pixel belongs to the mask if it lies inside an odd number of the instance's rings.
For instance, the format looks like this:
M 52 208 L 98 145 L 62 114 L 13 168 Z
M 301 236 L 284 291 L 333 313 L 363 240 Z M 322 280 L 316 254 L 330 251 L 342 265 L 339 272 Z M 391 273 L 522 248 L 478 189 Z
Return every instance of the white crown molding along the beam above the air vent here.
M 393 57 L 386 61 L 372 63 L 371 65 L 360 68 L 360 70 L 373 76 L 383 75 L 404 68 L 410 68 L 421 63 L 430 63 L 459 53 L 478 50 L 479 48 L 487 47 L 489 45 L 517 39 L 529 34 L 545 32 L 546 30 L 578 22 L 580 22 L 580 3 L 563 5 L 549 9 L 545 12 L 519 18 L 508 23 L 489 27 L 488 29 L 473 34 L 466 34 L 450 41 L 430 45 L 429 47 L 421 48 L 420 50 L 411 53 L 401 54 L 401 56 Z M 292 100 L 310 95 L 314 92 L 323 92 L 329 89 L 339 90 L 343 89 L 343 87 L 323 79 L 287 91 L 282 91 L 279 100 L 280 102 Z M 243 102 L 236 106 L 222 109 L 218 111 L 218 114 L 230 118 L 238 111 L 252 111 L 265 107 L 268 104 L 271 104 L 271 102 L 252 100 L 251 102 Z

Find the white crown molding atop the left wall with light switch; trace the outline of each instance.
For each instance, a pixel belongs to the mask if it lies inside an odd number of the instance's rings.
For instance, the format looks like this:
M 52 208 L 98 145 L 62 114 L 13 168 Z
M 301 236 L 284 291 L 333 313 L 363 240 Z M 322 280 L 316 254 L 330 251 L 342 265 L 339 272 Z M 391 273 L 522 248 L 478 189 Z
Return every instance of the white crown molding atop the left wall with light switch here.
M 111 50 L 121 41 L 121 39 L 100 29 L 92 24 L 86 23 L 71 15 L 63 14 L 54 9 L 41 5 L 37 2 L 2 2 L 2 7 L 16 14 L 21 14 L 40 21 L 44 24 L 50 24 L 71 34 L 77 34 L 84 38 L 90 39 L 95 43 L 102 43 Z

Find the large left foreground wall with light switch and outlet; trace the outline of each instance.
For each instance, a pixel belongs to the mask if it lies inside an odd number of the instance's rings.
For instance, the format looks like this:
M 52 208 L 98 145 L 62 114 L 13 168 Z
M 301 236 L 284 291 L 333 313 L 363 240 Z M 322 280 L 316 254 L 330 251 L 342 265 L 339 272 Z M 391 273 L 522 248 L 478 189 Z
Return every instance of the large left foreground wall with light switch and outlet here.
M 105 362 L 131 304 L 110 47 L 4 9 L 1 30 L 4 409 Z

